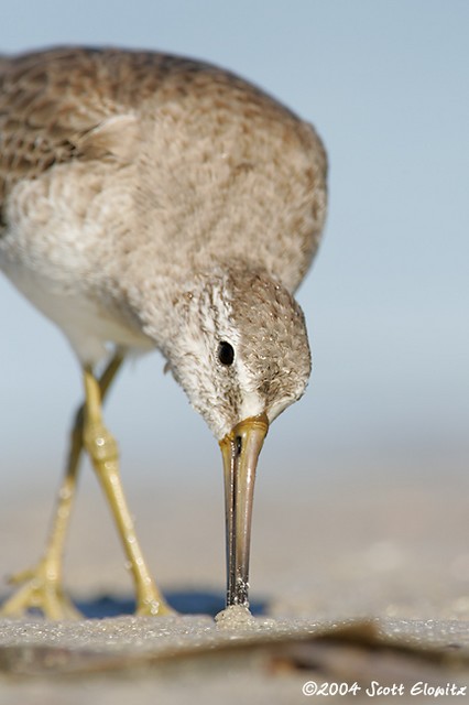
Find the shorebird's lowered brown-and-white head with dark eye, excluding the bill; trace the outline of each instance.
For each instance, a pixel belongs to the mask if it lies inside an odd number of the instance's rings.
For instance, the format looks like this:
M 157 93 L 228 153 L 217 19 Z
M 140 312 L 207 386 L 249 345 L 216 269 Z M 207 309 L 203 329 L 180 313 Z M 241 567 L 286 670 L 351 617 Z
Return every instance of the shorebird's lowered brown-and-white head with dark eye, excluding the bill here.
M 218 441 L 248 417 L 272 423 L 302 397 L 309 346 L 284 286 L 249 270 L 216 272 L 187 286 L 175 308 L 171 369 Z

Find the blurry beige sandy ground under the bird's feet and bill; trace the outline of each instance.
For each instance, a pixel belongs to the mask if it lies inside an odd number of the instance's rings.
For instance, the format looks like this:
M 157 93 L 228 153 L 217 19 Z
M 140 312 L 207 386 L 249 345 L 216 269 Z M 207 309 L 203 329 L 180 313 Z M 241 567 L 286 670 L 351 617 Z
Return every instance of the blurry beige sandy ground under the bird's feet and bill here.
M 66 584 L 86 618 L 0 621 L 0 704 L 469 698 L 465 478 L 386 471 L 315 484 L 303 474 L 295 489 L 259 482 L 255 622 L 234 629 L 212 619 L 223 601 L 220 488 L 131 489 L 149 561 L 181 612 L 160 619 L 129 614 L 107 510 L 94 486 L 83 489 Z M 34 563 L 51 501 L 44 487 L 2 496 L 2 575 Z M 313 692 L 325 682 L 329 690 Z

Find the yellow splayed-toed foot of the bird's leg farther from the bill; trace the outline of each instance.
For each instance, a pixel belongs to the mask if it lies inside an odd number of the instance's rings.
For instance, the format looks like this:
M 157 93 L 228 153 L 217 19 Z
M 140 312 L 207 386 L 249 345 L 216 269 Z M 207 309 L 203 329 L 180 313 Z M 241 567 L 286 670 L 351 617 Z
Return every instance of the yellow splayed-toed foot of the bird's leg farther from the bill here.
M 32 609 L 40 610 L 47 619 L 79 619 L 80 612 L 64 594 L 55 570 L 47 560 L 36 567 L 12 575 L 11 585 L 18 585 L 14 593 L 0 607 L 1 617 L 21 617 Z

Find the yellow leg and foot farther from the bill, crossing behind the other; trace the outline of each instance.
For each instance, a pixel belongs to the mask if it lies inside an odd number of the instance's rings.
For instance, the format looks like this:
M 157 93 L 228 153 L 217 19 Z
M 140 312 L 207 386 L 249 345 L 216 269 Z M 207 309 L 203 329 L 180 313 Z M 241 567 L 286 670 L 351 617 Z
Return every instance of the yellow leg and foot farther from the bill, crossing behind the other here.
M 102 372 L 99 379 L 101 399 L 105 398 L 122 360 L 122 354 L 117 352 Z M 44 555 L 34 568 L 10 577 L 9 582 L 14 585 L 25 584 L 3 604 L 0 615 L 19 616 L 29 609 L 36 608 L 41 609 L 50 619 L 76 619 L 80 616 L 62 589 L 62 557 L 77 482 L 78 463 L 83 451 L 84 410 L 85 406 L 81 405 L 75 416 L 68 462 L 58 491 Z

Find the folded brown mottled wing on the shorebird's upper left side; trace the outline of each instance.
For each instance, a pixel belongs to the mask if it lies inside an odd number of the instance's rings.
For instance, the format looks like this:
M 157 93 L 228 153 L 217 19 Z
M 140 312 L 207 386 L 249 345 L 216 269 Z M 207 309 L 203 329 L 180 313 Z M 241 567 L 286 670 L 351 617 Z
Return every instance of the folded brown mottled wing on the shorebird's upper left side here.
M 75 159 L 126 156 L 134 115 L 174 64 L 172 56 L 55 48 L 0 57 L 0 213 L 9 189 Z

